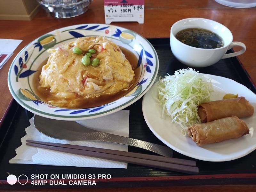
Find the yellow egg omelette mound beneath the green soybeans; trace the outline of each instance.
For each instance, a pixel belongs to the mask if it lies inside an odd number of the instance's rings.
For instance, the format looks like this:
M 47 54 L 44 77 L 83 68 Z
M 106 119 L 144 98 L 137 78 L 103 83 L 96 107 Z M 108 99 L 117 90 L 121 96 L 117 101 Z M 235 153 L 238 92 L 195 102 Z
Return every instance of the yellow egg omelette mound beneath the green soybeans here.
M 81 59 L 84 54 L 75 54 L 74 47 L 83 53 L 96 50 L 93 58 L 100 59 L 100 65 L 86 67 Z M 79 108 L 81 98 L 90 99 L 102 94 L 113 94 L 130 87 L 134 71 L 121 49 L 107 38 L 82 37 L 74 42 L 50 49 L 48 62 L 42 68 L 39 86 L 51 90 L 52 105 Z

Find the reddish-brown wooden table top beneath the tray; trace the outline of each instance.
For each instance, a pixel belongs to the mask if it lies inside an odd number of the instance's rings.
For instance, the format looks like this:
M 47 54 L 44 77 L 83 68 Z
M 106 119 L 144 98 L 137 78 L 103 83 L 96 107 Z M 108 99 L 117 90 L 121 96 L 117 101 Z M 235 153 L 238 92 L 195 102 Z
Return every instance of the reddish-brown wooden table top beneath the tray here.
M 144 24 L 137 22 L 113 22 L 111 24 L 129 28 L 146 38 L 154 38 L 170 37 L 172 24 L 184 18 L 200 17 L 215 20 L 230 29 L 233 34 L 233 41 L 240 41 L 246 45 L 246 52 L 238 56 L 238 58 L 252 77 L 253 82 L 256 82 L 255 11 L 256 7 L 247 9 L 231 8 L 218 4 L 214 0 L 147 0 L 145 1 Z M 0 38 L 23 40 L 14 51 L 11 59 L 0 70 L 0 92 L 2 96 L 0 100 L 0 119 L 4 116 L 12 100 L 12 95 L 7 85 L 7 74 L 17 53 L 38 36 L 57 28 L 82 23 L 105 23 L 103 0 L 94 0 L 86 13 L 70 19 L 53 18 L 42 9 L 31 21 L 0 20 Z M 236 47 L 234 50 L 238 51 Z M 247 187 L 250 189 L 249 186 Z M 196 187 L 195 189 L 206 188 Z M 140 190 L 148 191 L 146 188 Z M 155 188 L 155 191 L 160 190 L 161 188 Z

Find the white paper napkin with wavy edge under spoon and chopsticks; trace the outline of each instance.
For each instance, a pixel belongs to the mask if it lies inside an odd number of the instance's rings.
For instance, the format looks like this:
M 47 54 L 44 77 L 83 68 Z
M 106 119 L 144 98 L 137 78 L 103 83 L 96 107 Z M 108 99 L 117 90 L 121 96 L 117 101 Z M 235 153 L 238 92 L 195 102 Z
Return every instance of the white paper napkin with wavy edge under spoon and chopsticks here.
M 27 139 L 128 151 L 128 146 L 115 143 L 99 141 L 66 141 L 53 139 L 51 137 L 43 135 L 42 133 L 36 130 L 36 128 L 33 125 L 33 118 L 31 118 L 29 122 L 30 126 L 28 126 L 25 129 L 27 134 L 26 136 L 21 138 L 22 145 L 16 149 L 17 155 L 9 161 L 10 163 L 127 169 L 127 163 L 123 162 L 110 161 L 100 158 L 81 156 L 28 146 L 26 145 Z M 129 136 L 128 110 L 121 110 L 108 116 L 103 116 L 95 119 L 77 121 L 77 123 L 98 131 L 108 132 L 111 134 L 121 135 L 124 137 Z

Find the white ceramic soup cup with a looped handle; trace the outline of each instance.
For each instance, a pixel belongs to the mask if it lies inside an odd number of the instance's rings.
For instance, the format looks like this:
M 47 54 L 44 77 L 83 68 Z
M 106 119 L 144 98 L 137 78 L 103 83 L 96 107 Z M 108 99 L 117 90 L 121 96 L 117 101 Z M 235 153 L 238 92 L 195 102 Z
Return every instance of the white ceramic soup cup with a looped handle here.
M 219 35 L 224 41 L 224 46 L 215 49 L 196 48 L 181 43 L 175 35 L 186 28 L 203 28 Z M 172 25 L 170 45 L 173 55 L 183 64 L 190 67 L 207 67 L 221 59 L 235 57 L 245 52 L 246 46 L 241 42 L 232 42 L 233 35 L 224 25 L 209 19 L 188 18 L 179 20 Z M 242 50 L 225 54 L 234 46 L 240 46 Z

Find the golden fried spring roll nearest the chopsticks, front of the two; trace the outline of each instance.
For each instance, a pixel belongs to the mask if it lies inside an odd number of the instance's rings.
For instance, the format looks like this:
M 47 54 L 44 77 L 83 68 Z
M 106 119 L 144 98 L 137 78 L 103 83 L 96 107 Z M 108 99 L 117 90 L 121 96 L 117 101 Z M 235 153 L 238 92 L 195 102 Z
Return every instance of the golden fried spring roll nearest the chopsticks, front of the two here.
M 232 116 L 192 125 L 188 128 L 188 134 L 197 145 L 204 145 L 239 138 L 249 134 L 249 129 L 243 120 Z

